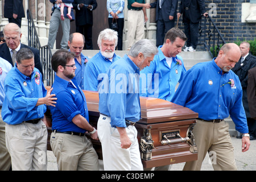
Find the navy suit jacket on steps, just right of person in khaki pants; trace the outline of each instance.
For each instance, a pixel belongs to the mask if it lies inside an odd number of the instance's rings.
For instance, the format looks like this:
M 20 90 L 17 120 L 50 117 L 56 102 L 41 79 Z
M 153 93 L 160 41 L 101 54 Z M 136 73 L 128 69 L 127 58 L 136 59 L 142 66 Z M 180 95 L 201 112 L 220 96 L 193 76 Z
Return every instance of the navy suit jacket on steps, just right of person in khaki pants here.
M 161 1 L 161 7 L 162 7 L 162 15 L 163 15 L 163 20 L 164 22 L 169 22 L 169 16 L 174 16 L 176 17 L 177 14 L 177 4 L 178 0 L 162 0 Z M 155 1 L 153 3 L 150 3 L 151 8 L 156 8 L 156 14 L 155 14 L 155 21 L 158 20 L 159 18 L 159 0 Z

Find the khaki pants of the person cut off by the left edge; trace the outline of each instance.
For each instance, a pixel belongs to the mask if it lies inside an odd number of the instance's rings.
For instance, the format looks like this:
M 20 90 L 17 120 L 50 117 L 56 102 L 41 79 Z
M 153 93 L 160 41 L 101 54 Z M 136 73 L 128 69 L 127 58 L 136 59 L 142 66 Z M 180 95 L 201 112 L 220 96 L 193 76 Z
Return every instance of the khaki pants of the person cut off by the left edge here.
M 11 157 L 6 148 L 5 122 L 3 122 L 0 109 L 0 171 L 8 171 L 11 167 Z

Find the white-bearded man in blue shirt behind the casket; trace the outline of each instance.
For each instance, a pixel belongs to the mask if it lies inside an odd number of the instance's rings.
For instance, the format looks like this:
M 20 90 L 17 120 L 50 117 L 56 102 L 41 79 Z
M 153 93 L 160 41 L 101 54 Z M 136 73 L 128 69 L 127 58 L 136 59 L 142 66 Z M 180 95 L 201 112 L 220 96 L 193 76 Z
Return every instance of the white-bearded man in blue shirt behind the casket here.
M 98 47 L 100 52 L 88 61 L 84 72 L 84 89 L 98 90 L 98 84 L 102 81 L 103 76 L 109 69 L 110 65 L 121 57 L 115 55 L 117 46 L 117 32 L 106 28 L 98 35 Z

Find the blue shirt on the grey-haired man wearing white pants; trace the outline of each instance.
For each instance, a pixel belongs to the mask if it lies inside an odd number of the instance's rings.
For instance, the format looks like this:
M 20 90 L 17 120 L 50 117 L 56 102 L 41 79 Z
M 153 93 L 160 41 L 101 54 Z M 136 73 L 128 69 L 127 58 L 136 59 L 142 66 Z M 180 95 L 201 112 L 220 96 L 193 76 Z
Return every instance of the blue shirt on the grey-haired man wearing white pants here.
M 139 68 L 127 55 L 110 66 L 100 85 L 98 110 L 111 117 L 112 127 L 141 119 Z

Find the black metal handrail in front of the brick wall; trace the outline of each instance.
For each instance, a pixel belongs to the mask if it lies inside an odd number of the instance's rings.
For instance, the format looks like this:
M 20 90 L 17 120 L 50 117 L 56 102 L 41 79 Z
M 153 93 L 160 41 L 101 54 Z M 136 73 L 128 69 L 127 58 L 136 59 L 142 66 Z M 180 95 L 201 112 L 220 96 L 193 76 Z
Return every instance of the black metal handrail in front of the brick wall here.
M 220 51 L 220 47 L 224 45 L 226 41 L 218 30 L 218 27 L 216 26 L 216 23 L 214 23 L 212 17 L 203 17 L 204 18 L 201 19 L 199 26 L 200 44 L 204 45 L 212 57 L 216 57 L 218 51 Z

